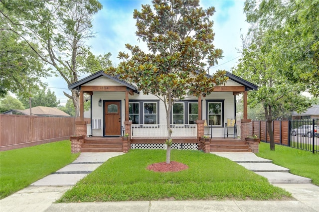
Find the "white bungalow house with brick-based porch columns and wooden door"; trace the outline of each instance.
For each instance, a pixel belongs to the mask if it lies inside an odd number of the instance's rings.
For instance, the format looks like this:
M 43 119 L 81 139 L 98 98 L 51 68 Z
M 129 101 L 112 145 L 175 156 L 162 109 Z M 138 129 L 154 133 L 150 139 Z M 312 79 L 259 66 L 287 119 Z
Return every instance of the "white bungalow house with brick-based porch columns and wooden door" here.
M 244 119 L 247 119 L 247 92 L 258 88 L 229 72 L 226 75 L 229 78 L 226 84 L 216 86 L 209 96 L 198 99 L 187 96 L 174 104 L 171 127 L 175 148 L 197 149 L 202 135 L 207 134 L 213 140 L 218 140 L 228 137 L 227 130 L 229 134 L 232 133 L 229 138 L 238 141 L 234 128 L 226 127 L 229 119 L 236 119 L 235 96 L 244 93 Z M 128 149 L 163 148 L 163 141 L 167 137 L 166 112 L 164 104 L 156 96 L 144 95 L 134 85 L 103 71 L 79 80 L 68 88 L 80 92 L 80 120 L 83 120 L 83 93 L 91 95 L 92 133 L 89 134 L 92 137 L 85 138 L 81 151 L 107 151 L 107 144 L 108 151 L 112 151 L 112 148 L 113 151 L 119 151 L 120 148 L 126 151 L 123 146 L 111 147 L 112 142 L 116 143 L 115 140 L 122 141 L 124 133 L 129 134 Z M 86 137 L 90 131 L 86 128 L 86 122 L 77 122 L 77 135 Z M 97 143 L 100 145 L 93 147 Z

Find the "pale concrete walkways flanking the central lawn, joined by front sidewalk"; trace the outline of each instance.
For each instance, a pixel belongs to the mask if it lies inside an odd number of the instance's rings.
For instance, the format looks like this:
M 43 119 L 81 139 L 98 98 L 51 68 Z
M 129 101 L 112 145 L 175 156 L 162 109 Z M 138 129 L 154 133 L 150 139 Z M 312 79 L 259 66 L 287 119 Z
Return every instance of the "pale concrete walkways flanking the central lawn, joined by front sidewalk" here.
M 77 181 L 95 170 L 103 162 L 111 157 L 123 154 L 81 153 L 73 163 L 0 200 L 0 212 L 319 212 L 319 187 L 310 184 L 309 179 L 292 175 L 286 168 L 271 164 L 270 160 L 258 158 L 253 153 L 213 153 L 229 158 L 245 168 L 256 171 L 257 174 L 270 173 L 268 177 L 267 174 L 265 177 L 273 184 L 275 182 L 275 186 L 291 192 L 296 200 L 135 201 L 52 204 L 68 189 L 72 188 Z M 282 173 L 286 175 L 280 175 Z

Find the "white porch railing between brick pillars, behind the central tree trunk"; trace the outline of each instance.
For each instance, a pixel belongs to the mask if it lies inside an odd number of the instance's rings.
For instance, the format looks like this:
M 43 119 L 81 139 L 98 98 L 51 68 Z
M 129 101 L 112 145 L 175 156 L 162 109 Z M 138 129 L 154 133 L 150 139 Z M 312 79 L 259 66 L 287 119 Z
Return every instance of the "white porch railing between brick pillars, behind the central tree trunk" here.
M 197 137 L 196 124 L 171 124 L 173 137 Z M 131 136 L 134 137 L 167 137 L 166 124 L 132 124 Z

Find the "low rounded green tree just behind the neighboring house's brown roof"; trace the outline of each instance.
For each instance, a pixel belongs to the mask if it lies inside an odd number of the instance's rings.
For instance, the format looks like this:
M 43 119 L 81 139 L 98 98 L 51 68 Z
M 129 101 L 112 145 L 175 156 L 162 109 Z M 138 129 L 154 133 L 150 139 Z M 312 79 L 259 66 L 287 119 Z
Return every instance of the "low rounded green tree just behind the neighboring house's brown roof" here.
M 60 104 L 60 100 L 57 101 L 54 92 L 48 89 L 45 93 L 45 89 L 37 91 L 35 94 L 31 94 L 31 107 L 35 106 L 47 106 L 47 107 L 57 107 Z M 24 98 L 23 96 L 18 96 L 18 100 L 23 104 L 25 108 L 29 108 L 29 98 Z

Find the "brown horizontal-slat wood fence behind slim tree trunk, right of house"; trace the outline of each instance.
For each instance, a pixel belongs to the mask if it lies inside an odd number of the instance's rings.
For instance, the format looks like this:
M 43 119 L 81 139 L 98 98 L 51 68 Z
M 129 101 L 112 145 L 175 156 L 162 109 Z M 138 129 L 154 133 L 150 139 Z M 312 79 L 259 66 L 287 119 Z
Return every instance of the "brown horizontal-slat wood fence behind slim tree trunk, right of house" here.
M 272 128 L 274 131 L 275 143 L 288 145 L 290 136 L 289 120 L 273 120 Z M 253 121 L 253 134 L 259 136 L 261 141 L 270 141 L 266 121 Z

